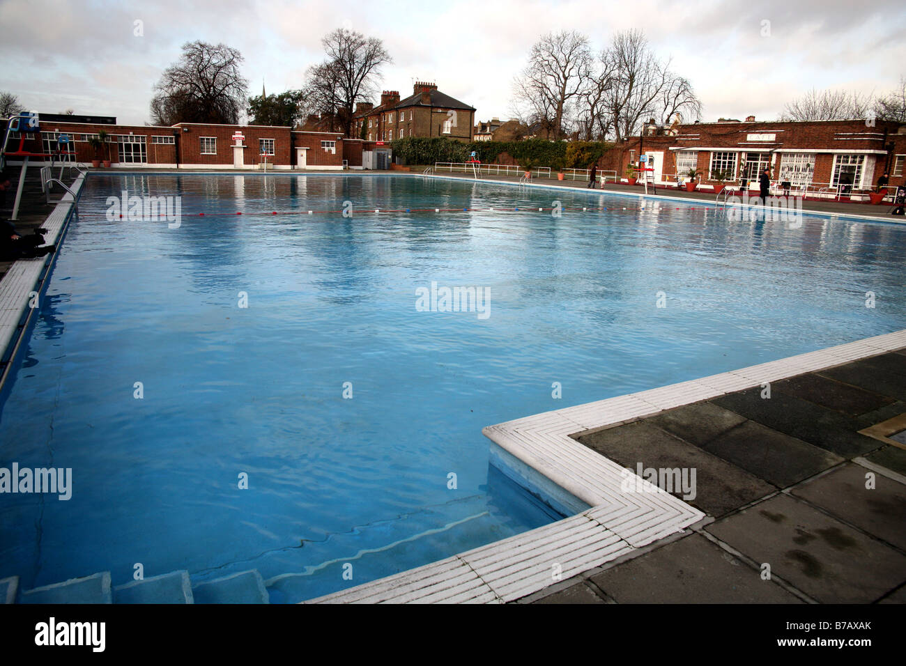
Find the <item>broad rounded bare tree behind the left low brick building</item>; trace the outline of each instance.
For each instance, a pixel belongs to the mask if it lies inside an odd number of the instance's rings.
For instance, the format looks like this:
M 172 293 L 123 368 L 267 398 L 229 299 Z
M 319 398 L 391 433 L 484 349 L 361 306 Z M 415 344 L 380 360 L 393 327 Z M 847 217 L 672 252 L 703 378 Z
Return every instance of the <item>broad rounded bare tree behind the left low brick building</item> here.
M 246 106 L 248 82 L 239 67 L 242 54 L 225 44 L 188 42 L 182 56 L 154 86 L 151 118 L 158 125 L 177 122 L 236 124 Z

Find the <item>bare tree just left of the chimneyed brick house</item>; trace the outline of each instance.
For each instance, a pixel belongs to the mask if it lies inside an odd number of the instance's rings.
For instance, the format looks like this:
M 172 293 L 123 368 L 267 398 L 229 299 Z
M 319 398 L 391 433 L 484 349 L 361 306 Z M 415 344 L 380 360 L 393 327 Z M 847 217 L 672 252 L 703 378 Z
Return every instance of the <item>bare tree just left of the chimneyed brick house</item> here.
M 381 67 L 393 60 L 380 39 L 345 28 L 334 30 L 321 43 L 327 60 L 309 70 L 304 88 L 313 95 L 313 107 L 336 113 L 346 136 L 351 137 L 355 103 L 371 99 Z

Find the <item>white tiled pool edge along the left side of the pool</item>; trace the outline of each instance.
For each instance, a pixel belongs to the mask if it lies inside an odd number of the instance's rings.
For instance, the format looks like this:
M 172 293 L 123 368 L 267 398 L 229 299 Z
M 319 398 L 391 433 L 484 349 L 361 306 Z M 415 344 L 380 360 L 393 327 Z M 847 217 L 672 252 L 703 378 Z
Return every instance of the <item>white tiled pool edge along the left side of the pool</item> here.
M 72 183 L 72 191 L 76 196 L 84 182 L 85 176 L 82 174 Z M 47 229 L 44 238 L 49 244 L 60 242 L 63 227 L 74 205 L 75 198 L 67 192 L 43 221 L 42 227 Z M 3 280 L 0 280 L 0 352 L 10 362 L 19 339 L 19 325 L 26 322 L 29 314 L 29 303 L 32 301 L 30 294 L 41 291 L 38 281 L 55 258 L 51 255 L 38 259 L 17 259 L 3 276 Z M 0 375 L 0 385 L 5 380 L 7 368 Z

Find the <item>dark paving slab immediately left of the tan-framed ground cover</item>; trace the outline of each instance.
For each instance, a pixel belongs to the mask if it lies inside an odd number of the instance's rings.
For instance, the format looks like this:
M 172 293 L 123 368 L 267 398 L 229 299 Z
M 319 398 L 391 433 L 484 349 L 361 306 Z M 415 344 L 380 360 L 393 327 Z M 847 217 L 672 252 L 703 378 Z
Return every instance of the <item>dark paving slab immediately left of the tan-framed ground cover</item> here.
M 762 398 L 761 389 L 756 388 L 720 396 L 713 402 L 843 458 L 855 458 L 879 446 L 877 439 L 858 433 L 863 428 L 858 421 L 781 391 Z

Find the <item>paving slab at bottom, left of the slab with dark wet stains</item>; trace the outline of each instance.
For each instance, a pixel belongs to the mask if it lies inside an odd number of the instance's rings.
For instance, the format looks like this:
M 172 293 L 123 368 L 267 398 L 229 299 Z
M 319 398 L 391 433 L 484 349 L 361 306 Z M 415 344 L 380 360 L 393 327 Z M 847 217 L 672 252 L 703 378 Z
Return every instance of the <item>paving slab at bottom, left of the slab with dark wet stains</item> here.
M 679 539 L 591 580 L 618 603 L 802 603 L 701 535 Z

